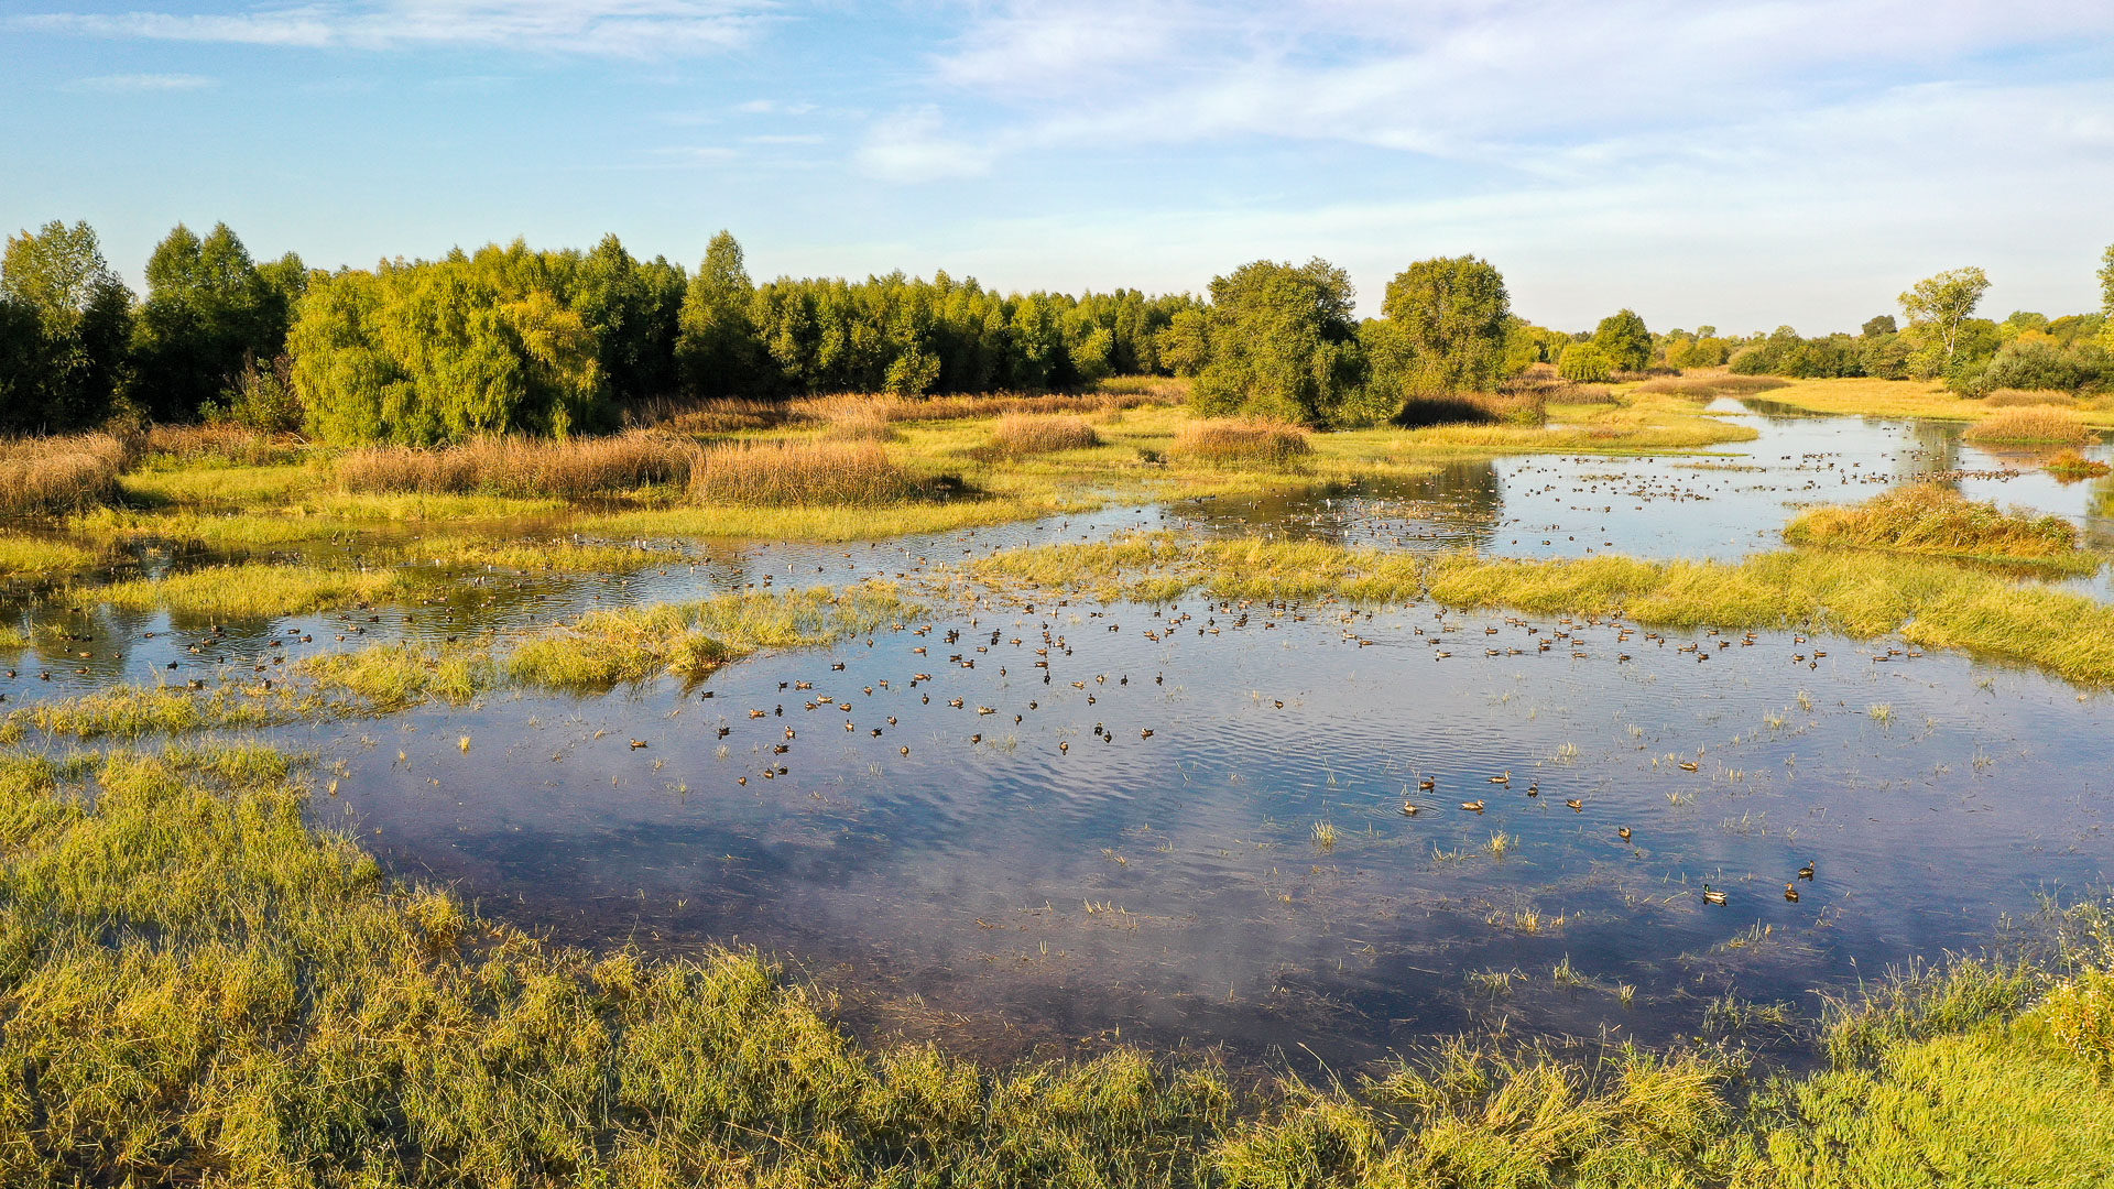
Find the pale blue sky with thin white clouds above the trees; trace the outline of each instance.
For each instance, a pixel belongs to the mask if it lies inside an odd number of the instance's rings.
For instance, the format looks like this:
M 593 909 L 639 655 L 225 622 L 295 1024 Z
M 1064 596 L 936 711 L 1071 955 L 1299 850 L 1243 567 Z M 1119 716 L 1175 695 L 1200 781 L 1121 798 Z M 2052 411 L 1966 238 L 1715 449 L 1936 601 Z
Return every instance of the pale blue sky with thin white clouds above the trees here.
M 2053 0 L 0 0 L 0 224 L 372 267 L 526 237 L 757 279 L 1361 313 L 1473 252 L 1564 330 L 1854 330 L 1979 264 L 2097 309 L 2114 4 Z

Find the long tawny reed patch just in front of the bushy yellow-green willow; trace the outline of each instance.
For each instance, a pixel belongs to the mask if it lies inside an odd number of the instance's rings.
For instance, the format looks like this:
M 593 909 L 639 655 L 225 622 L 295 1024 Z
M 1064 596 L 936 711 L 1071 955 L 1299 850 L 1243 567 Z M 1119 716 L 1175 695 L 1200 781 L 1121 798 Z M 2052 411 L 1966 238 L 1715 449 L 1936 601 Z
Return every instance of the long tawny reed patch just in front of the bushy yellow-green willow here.
M 478 438 L 438 449 L 366 446 L 338 461 L 338 484 L 345 491 L 583 499 L 689 482 L 698 455 L 696 442 L 651 429 L 564 442 Z

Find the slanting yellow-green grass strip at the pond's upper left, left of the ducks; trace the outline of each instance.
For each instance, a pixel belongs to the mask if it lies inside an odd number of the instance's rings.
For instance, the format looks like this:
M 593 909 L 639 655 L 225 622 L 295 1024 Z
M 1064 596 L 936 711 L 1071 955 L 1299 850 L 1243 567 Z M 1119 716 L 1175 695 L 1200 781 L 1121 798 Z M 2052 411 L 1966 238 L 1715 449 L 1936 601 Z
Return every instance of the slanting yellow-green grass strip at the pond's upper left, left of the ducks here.
M 822 645 L 917 614 L 888 582 L 590 611 L 524 641 L 505 658 L 505 675 L 541 690 L 607 690 L 666 673 L 693 681 L 763 647 Z

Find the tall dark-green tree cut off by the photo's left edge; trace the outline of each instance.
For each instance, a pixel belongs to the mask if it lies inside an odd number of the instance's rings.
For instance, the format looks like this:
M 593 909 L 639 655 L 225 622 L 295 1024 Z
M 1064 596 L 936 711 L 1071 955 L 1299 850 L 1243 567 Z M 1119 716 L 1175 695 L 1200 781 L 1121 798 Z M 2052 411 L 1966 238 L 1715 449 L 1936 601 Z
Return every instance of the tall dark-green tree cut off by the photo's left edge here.
M 70 429 L 112 413 L 127 372 L 131 290 L 87 222 L 11 235 L 0 256 L 0 427 Z

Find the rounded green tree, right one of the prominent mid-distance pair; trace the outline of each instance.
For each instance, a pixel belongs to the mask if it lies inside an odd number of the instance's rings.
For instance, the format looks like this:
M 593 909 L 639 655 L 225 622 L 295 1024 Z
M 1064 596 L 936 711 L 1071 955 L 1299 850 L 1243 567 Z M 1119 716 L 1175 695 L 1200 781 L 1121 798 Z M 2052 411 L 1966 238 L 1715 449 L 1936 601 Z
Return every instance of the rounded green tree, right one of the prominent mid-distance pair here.
M 1488 260 L 1418 260 L 1387 283 L 1380 313 L 1393 330 L 1389 381 L 1404 396 L 1484 391 L 1505 370 L 1512 296 Z

